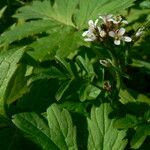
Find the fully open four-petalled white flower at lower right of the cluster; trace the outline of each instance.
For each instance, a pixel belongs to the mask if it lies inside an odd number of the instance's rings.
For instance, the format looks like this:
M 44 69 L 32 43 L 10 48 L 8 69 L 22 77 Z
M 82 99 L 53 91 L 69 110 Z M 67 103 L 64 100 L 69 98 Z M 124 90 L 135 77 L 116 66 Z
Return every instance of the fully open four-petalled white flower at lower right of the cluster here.
M 119 30 L 110 31 L 109 36 L 114 38 L 114 44 L 115 45 L 120 45 L 121 40 L 125 42 L 131 42 L 132 39 L 129 36 L 123 36 L 125 34 L 125 29 L 120 28 Z

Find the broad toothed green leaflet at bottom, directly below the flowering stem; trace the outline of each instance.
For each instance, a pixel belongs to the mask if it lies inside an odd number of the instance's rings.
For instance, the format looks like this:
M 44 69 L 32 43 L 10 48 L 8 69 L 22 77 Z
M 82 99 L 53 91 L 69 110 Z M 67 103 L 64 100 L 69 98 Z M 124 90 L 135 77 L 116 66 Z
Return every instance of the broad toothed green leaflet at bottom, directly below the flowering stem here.
M 125 131 L 113 127 L 114 120 L 109 119 L 112 111 L 109 104 L 92 107 L 91 119 L 88 119 L 89 150 L 123 150 L 127 144 Z

